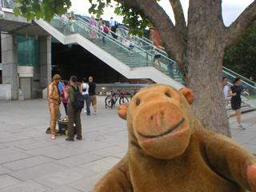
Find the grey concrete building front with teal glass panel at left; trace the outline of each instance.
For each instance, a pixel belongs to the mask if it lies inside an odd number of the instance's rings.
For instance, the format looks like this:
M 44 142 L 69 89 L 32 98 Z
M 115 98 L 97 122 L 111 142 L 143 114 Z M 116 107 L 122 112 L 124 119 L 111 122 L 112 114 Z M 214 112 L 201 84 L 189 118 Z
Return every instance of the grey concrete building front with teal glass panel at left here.
M 2 83 L 11 84 L 12 99 L 18 99 L 22 78 L 30 78 L 30 98 L 42 98 L 42 90 L 51 82 L 51 37 L 42 37 L 38 41 L 37 47 L 33 47 L 38 51 L 31 52 L 31 46 L 35 44 L 26 44 L 26 40 L 18 44 L 17 36 L 2 34 Z

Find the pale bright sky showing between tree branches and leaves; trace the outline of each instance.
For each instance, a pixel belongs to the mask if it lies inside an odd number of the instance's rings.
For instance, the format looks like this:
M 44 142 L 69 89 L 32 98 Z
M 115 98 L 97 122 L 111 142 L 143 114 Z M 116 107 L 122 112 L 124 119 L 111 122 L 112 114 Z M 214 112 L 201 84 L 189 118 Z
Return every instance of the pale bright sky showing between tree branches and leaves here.
M 85 14 L 87 16 L 91 15 L 88 12 L 90 8 L 90 2 L 88 0 L 71 0 L 71 2 L 72 7 L 70 8 L 70 10 L 77 10 L 77 12 L 80 12 L 80 14 Z M 93 0 L 93 2 L 96 3 L 97 1 Z M 189 0 L 181 0 L 181 2 L 185 18 L 187 18 Z M 241 14 L 242 11 L 245 10 L 246 7 L 249 6 L 252 2 L 254 2 L 254 0 L 222 0 L 222 17 L 225 26 L 230 26 L 230 24 L 234 22 L 236 18 L 238 18 L 239 14 Z M 113 6 L 116 4 L 116 2 L 112 3 Z M 161 0 L 160 2 L 158 2 L 158 4 L 164 7 L 166 14 L 168 14 L 174 22 L 174 14 L 171 9 L 169 0 Z M 110 20 L 110 17 L 114 17 L 116 21 L 122 23 L 122 17 L 114 14 L 114 8 L 105 8 L 104 14 L 102 15 L 103 20 Z

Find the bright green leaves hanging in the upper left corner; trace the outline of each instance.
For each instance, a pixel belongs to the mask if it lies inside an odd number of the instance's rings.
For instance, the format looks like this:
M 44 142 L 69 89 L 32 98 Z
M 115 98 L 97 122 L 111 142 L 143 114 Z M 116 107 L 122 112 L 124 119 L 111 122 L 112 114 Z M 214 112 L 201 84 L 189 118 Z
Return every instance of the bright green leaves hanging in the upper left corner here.
M 16 0 L 21 6 L 14 8 L 14 15 L 30 19 L 43 18 L 50 22 L 54 14 L 64 14 L 71 6 L 70 0 Z

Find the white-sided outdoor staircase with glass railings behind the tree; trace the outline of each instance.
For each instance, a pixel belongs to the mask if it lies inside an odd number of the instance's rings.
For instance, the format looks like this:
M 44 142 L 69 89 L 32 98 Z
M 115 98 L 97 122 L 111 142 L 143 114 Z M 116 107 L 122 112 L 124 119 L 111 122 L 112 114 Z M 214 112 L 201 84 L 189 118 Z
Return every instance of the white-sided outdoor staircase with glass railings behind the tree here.
M 117 31 L 118 40 L 116 40 L 112 38 L 110 33 L 102 34 L 97 28 L 90 27 L 88 21 L 88 17 L 79 16 L 74 23 L 70 24 L 69 22 L 63 22 L 56 15 L 50 25 L 42 20 L 36 22 L 63 44 L 80 44 L 127 78 L 151 78 L 154 82 L 169 84 L 178 89 L 182 87 L 181 84 L 184 84 L 184 82 L 182 82 L 182 74 L 176 70 L 176 63 L 167 57 L 165 51 L 156 50 L 150 40 L 135 36 L 132 42 L 134 49 L 130 50 L 126 46 L 128 29 L 119 26 Z M 70 31 L 71 25 L 74 26 L 74 33 Z M 52 26 L 52 28 L 50 29 L 49 26 Z M 56 30 L 58 30 L 58 33 Z M 97 40 L 90 38 L 90 30 L 94 30 L 98 34 Z M 106 46 L 102 43 L 102 37 L 106 38 Z M 160 71 L 152 67 L 156 52 L 161 52 L 162 69 Z M 242 77 L 225 67 L 223 67 L 222 72 L 223 76 L 228 78 L 230 84 L 235 77 Z M 247 92 L 249 92 L 246 98 L 242 97 L 242 111 L 254 110 L 256 106 L 255 83 L 244 77 L 242 77 L 242 82 L 244 86 L 248 87 Z M 227 110 L 230 109 L 230 106 L 227 106 Z

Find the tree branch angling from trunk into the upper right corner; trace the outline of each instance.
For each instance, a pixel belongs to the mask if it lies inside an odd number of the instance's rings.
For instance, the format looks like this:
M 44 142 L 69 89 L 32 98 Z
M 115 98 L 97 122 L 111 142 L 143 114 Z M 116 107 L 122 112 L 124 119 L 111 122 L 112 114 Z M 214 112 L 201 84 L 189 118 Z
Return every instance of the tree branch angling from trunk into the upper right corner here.
M 256 0 L 226 29 L 226 46 L 232 45 L 256 19 Z

